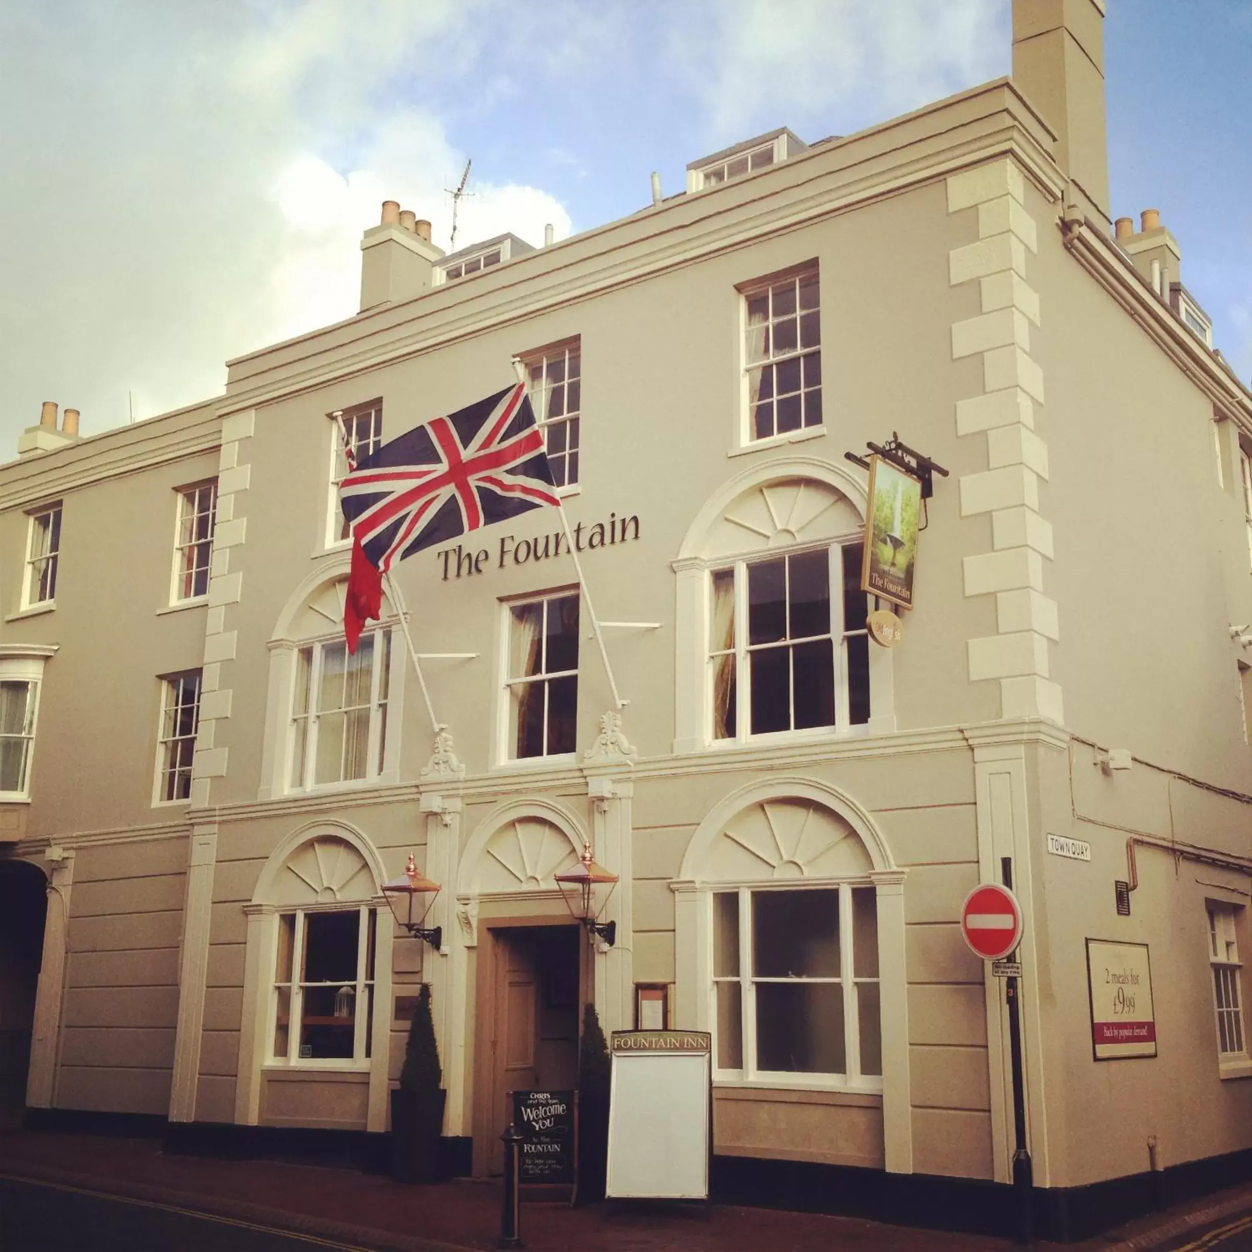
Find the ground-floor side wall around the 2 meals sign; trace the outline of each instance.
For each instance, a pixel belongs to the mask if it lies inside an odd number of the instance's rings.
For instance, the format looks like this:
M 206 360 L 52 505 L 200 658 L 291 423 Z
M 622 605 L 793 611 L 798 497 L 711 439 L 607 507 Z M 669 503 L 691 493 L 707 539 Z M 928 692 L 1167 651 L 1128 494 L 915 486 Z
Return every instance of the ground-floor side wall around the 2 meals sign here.
M 1218 1073 L 1204 911 L 1206 899 L 1246 905 L 1247 878 L 1193 861 L 1176 865 L 1168 851 L 1141 846 L 1131 916 L 1119 916 L 1113 881 L 1128 878 L 1127 833 L 1112 823 L 1121 819 L 1163 834 L 1171 803 L 1182 808 L 1196 791 L 1138 767 L 1129 777 L 1107 777 L 1092 766 L 1089 750 L 1078 744 L 1073 750 L 1073 786 L 1060 752 L 1039 759 L 1033 782 L 1042 798 L 1043 828 L 1085 840 L 1092 849 L 1087 863 L 1048 855 L 1042 838 L 1034 844 L 1034 870 L 1043 884 L 1040 1000 L 1049 1042 L 1054 1186 L 1143 1172 L 1149 1136 L 1157 1139 L 1161 1166 L 1168 1167 L 1246 1149 L 1252 1127 L 1252 1078 L 1223 1079 Z M 1204 799 L 1209 820 L 1189 831 L 1192 839 L 1213 831 L 1219 840 L 1223 826 L 1228 839 L 1236 823 L 1246 838 L 1246 806 Z M 1179 831 L 1179 838 L 1188 835 Z M 1039 906 L 1040 896 L 1035 899 Z M 1241 950 L 1252 943 L 1247 908 L 1243 923 Z M 1148 944 L 1157 1057 L 1092 1059 L 1087 938 Z

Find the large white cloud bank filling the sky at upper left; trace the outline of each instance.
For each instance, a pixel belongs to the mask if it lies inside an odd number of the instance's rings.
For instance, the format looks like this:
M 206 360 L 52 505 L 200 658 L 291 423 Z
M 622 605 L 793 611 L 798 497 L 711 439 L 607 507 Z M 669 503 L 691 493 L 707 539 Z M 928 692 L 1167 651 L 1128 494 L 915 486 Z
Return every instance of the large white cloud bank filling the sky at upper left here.
M 43 399 L 94 433 L 128 392 L 136 417 L 212 397 L 228 358 L 349 317 L 383 199 L 446 244 L 464 158 L 397 101 L 464 73 L 487 5 L 0 9 L 0 461 Z M 462 242 L 570 233 L 540 189 L 473 190 Z

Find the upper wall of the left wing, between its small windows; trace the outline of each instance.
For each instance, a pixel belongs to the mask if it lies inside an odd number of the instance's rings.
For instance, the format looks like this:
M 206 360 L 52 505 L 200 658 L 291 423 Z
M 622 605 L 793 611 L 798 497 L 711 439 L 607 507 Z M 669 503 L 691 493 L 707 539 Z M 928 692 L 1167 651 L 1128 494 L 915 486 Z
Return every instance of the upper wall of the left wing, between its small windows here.
M 46 477 L 76 451 L 45 457 Z M 174 488 L 215 472 L 215 454 L 202 453 L 45 497 L 63 500 L 56 608 L 0 623 L 4 642 L 59 645 L 44 667 L 28 839 L 185 819 L 185 804 L 153 805 L 156 676 L 199 667 L 207 610 L 162 610 L 170 597 Z M 20 602 L 26 526 L 24 508 L 0 516 L 8 615 Z

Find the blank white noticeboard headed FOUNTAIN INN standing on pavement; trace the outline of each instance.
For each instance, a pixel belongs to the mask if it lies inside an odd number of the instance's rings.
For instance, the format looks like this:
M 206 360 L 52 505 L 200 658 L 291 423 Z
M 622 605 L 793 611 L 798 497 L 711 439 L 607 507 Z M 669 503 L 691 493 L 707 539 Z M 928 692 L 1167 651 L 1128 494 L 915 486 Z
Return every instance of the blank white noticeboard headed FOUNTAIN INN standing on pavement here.
M 707 1032 L 613 1033 L 606 1194 L 709 1197 L 709 1065 Z

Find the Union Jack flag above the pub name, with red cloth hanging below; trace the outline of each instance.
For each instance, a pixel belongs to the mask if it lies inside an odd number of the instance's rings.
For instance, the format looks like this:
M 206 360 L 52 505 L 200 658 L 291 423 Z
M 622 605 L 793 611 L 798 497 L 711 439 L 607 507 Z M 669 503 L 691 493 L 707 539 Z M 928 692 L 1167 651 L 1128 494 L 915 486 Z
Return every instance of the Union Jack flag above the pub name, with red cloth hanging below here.
M 396 561 L 481 526 L 560 505 L 526 387 L 518 383 L 361 461 L 347 449 L 339 503 L 352 528 L 343 632 L 356 651 L 382 608 L 382 576 Z

